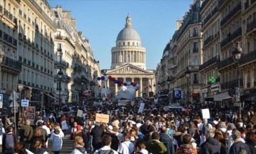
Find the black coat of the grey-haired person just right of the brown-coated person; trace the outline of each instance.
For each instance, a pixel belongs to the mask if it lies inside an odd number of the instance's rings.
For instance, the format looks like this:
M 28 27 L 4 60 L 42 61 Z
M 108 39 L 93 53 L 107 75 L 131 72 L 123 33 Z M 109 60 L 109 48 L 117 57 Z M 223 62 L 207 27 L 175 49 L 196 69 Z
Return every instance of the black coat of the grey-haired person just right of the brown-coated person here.
M 203 153 L 203 154 L 220 153 L 220 144 L 218 140 L 212 137 L 210 137 L 209 139 L 206 139 L 206 141 L 203 144 L 201 144 L 200 153 Z

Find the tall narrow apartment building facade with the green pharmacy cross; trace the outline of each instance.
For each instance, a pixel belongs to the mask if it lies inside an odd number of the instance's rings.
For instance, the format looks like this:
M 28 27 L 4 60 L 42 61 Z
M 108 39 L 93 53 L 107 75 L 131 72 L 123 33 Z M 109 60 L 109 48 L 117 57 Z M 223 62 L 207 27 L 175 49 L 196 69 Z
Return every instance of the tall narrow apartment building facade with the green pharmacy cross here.
M 221 92 L 218 62 L 220 62 L 220 13 L 218 0 L 203 1 L 201 5 L 202 64 L 201 102 L 213 101 L 213 96 Z

